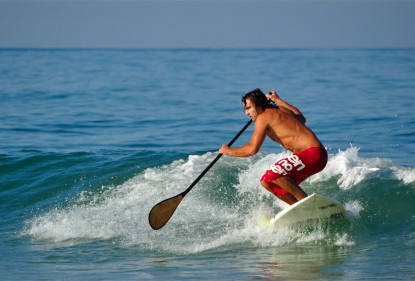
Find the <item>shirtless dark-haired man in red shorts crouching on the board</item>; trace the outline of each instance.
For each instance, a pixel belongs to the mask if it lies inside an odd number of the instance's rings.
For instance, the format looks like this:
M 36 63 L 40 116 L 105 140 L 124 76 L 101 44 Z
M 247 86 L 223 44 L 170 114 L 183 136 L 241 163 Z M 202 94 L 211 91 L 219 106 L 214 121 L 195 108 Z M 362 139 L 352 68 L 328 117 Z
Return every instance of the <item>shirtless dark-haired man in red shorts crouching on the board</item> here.
M 324 169 L 326 149 L 305 125 L 306 119 L 300 110 L 282 100 L 275 91 L 265 95 L 255 89 L 244 95 L 242 102 L 245 114 L 255 122 L 251 140 L 239 148 L 223 145 L 219 153 L 235 157 L 255 155 L 268 136 L 293 153 L 271 166 L 262 176 L 261 184 L 290 205 L 306 198 L 299 184 Z

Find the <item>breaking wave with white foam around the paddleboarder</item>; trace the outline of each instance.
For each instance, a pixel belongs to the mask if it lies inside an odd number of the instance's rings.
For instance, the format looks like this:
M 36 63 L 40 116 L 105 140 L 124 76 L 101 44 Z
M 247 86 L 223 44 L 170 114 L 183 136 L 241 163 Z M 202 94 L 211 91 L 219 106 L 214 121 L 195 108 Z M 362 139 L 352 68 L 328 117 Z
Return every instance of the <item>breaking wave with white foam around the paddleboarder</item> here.
M 327 229 L 312 233 L 264 230 L 257 226 L 261 216 L 287 206 L 259 184 L 263 171 L 286 152 L 246 159 L 223 157 L 186 196 L 168 224 L 159 231 L 152 230 L 148 224 L 151 207 L 184 191 L 216 156 L 208 152 L 145 168 L 121 184 L 82 191 L 69 202 L 28 219 L 21 234 L 48 243 L 104 239 L 139 251 L 173 253 L 311 241 L 350 246 L 356 235 L 366 231 L 356 225 L 371 224 L 376 229 L 382 227 L 379 220 L 389 223 L 377 206 L 399 203 L 396 201 L 402 197 L 389 198 L 391 192 L 407 196 L 415 191 L 414 168 L 389 159 L 363 158 L 358 151 L 351 147 L 330 155 L 327 167 L 303 183 L 306 192 L 322 193 L 345 205 L 354 227 L 335 233 Z M 373 192 L 374 188 L 381 193 Z M 410 205 L 406 208 L 413 211 Z M 406 216 L 404 220 L 408 223 L 413 218 Z

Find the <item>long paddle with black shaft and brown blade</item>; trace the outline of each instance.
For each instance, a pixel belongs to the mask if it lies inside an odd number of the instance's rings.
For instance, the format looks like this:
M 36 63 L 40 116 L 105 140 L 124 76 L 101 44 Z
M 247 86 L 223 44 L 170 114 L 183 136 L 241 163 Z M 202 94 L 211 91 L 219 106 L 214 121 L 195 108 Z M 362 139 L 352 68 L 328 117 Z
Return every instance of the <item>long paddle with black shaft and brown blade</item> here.
M 228 146 L 231 146 L 242 133 L 246 130 L 246 128 L 251 125 L 252 120 L 249 120 L 248 123 L 242 128 L 241 131 L 231 140 L 231 142 L 228 144 Z M 218 156 L 216 156 L 215 159 L 209 164 L 209 166 L 206 167 L 206 169 L 194 180 L 194 182 L 182 193 L 173 196 L 169 199 L 163 200 L 160 203 L 156 204 L 148 214 L 148 221 L 150 223 L 150 226 L 154 230 L 158 230 L 162 228 L 171 218 L 176 208 L 179 206 L 180 202 L 183 200 L 183 198 L 186 196 L 187 193 L 196 185 L 196 183 L 209 171 L 210 168 L 216 163 L 216 161 L 219 160 L 219 158 L 222 156 L 222 153 L 219 153 Z

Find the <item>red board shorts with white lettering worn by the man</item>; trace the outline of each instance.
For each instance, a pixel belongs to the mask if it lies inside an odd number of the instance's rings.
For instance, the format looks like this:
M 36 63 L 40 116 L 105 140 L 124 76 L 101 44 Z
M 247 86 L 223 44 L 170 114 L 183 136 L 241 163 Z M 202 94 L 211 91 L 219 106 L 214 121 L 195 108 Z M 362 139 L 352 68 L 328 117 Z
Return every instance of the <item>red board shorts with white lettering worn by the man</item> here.
M 261 181 L 268 183 L 275 195 L 285 195 L 288 192 L 272 181 L 288 176 L 298 185 L 306 178 L 322 171 L 327 164 L 327 159 L 327 151 L 324 148 L 311 147 L 278 160 L 265 172 Z

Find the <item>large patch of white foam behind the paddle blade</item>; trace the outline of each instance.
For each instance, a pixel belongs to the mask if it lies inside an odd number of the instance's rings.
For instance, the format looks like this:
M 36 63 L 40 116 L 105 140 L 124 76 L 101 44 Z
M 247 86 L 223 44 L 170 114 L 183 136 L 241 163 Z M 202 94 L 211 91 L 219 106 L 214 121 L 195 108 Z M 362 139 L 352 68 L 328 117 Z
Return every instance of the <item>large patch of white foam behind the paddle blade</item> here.
M 23 234 L 54 243 L 115 239 L 126 246 L 170 252 L 193 252 L 200 245 L 224 243 L 221 229 L 237 223 L 238 209 L 210 202 L 203 196 L 203 188 L 208 188 L 203 185 L 186 196 L 162 230 L 154 231 L 148 223 L 151 207 L 181 193 L 214 156 L 190 156 L 187 161 L 146 169 L 122 185 L 82 192 L 68 206 L 31 219 Z

